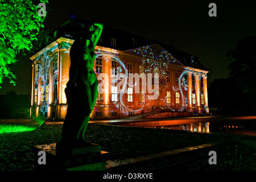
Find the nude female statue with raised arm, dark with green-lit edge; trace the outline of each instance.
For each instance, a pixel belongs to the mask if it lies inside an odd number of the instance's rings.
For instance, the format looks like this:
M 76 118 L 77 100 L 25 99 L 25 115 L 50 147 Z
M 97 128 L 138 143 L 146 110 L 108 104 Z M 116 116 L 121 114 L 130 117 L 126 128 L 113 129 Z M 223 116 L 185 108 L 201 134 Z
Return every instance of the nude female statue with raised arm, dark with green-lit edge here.
M 96 58 L 94 51 L 101 31 L 101 23 L 90 24 L 71 47 L 69 81 L 65 88 L 68 109 L 62 131 L 62 141 L 66 144 L 87 143 L 84 134 L 98 95 L 98 80 L 93 71 L 93 61 Z

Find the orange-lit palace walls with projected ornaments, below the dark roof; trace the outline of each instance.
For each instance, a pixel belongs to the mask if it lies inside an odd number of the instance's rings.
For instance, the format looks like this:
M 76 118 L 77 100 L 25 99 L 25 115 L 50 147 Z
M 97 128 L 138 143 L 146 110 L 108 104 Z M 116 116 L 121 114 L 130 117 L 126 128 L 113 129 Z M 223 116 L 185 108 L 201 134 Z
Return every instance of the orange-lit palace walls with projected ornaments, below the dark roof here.
M 49 44 L 35 55 L 31 56 L 32 60 L 32 97 L 31 97 L 31 117 L 39 117 L 44 115 L 49 119 L 64 119 L 67 113 L 67 100 L 64 89 L 69 79 L 70 56 L 69 51 L 73 40 L 59 38 L 56 42 Z M 148 55 L 139 55 L 137 52 L 148 51 L 152 55 L 164 52 L 167 60 L 154 59 Z M 152 109 L 166 109 L 175 112 L 208 112 L 208 96 L 207 96 L 207 71 L 200 69 L 185 67 L 175 57 L 171 56 L 167 51 L 158 44 L 148 47 L 131 49 L 127 51 L 119 51 L 117 49 L 96 46 L 95 50 L 97 58 L 101 59 L 101 64 L 94 60 L 94 71 L 99 81 L 99 85 L 103 90 L 101 97 L 99 96 L 94 110 L 91 114 L 92 118 L 116 118 L 126 115 L 141 114 L 151 112 Z M 161 56 L 156 56 L 161 57 Z M 96 58 L 96 59 L 97 59 Z M 36 69 L 36 67 L 38 67 Z M 101 68 L 99 68 L 101 67 Z M 97 69 L 96 69 L 97 68 Z M 97 73 L 98 72 L 98 73 Z M 129 73 L 158 73 L 159 89 L 154 90 L 158 94 L 158 98 L 150 99 L 154 93 L 143 93 L 142 78 L 133 79 L 135 85 L 123 84 L 121 89 L 132 88 L 130 92 L 112 93 L 113 86 L 117 86 L 122 79 L 116 79 L 113 76 L 115 72 L 118 74 L 129 76 Z M 168 75 L 167 75 L 168 72 Z M 175 75 L 176 73 L 176 75 Z M 184 84 L 184 75 L 187 75 L 187 84 Z M 192 104 L 192 84 L 191 76 L 195 75 L 204 78 L 204 105 L 200 102 L 200 83 L 196 81 L 196 105 Z M 168 78 L 167 78 L 168 77 Z M 148 77 L 146 77 L 147 79 Z M 168 80 L 168 81 L 167 81 Z M 113 82 L 115 83 L 113 84 Z M 152 80 L 151 80 L 152 82 Z M 146 80 L 146 84 L 148 84 Z M 48 85 L 49 93 L 46 94 L 46 86 Z M 135 86 L 138 86 L 139 92 L 135 93 Z M 152 84 L 154 88 L 155 84 Z M 44 89 L 44 93 L 42 93 Z M 123 89 L 125 90 L 125 89 Z M 138 90 L 137 90 L 138 91 Z M 147 90 L 146 90 L 147 91 Z M 36 93 L 35 93 L 36 92 Z M 167 94 L 170 93 L 170 95 Z M 176 94 L 179 93 L 179 94 Z M 116 96 L 115 96 L 116 94 Z M 168 95 L 168 96 L 167 96 Z M 179 95 L 179 97 L 176 97 Z M 187 103 L 185 103 L 187 96 Z M 35 102 L 35 97 L 37 100 Z M 43 99 L 42 99 L 43 97 Z M 47 97 L 47 98 L 46 98 Z M 167 102 L 168 100 L 168 102 Z M 160 109 L 159 109 L 160 108 Z

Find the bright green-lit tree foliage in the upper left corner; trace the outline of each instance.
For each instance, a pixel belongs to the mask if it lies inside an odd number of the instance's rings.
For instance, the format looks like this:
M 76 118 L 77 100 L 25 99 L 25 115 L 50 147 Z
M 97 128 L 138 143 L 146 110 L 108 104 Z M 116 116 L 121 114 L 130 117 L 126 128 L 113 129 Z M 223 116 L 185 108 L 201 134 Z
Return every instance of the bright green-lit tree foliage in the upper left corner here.
M 38 15 L 41 2 L 48 3 L 48 0 L 0 0 L 0 84 L 7 77 L 15 85 L 16 76 L 9 65 L 17 61 L 16 54 L 31 51 L 38 40 L 46 19 Z

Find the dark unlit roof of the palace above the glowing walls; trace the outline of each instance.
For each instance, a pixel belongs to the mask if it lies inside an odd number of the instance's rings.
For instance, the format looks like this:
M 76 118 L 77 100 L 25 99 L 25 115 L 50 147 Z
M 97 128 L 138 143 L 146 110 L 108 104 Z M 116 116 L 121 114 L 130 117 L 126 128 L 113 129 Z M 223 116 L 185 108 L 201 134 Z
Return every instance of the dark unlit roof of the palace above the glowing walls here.
M 82 24 L 90 23 L 85 19 L 71 19 L 57 28 L 55 32 L 55 39 L 61 36 L 69 39 L 76 39 L 82 32 Z M 115 39 L 115 45 L 112 43 L 112 39 Z M 129 32 L 118 30 L 117 28 L 104 25 L 101 33 L 101 38 L 97 45 L 102 47 L 109 47 L 118 49 L 119 51 L 127 51 L 130 49 L 140 48 L 144 46 L 151 46 L 159 44 L 164 50 L 168 51 L 177 60 L 187 67 L 193 67 L 197 69 L 207 70 L 203 64 L 200 63 L 199 58 L 195 55 L 191 55 L 185 51 L 175 48 L 172 44 L 164 44 L 158 42 L 158 40 L 150 40 L 143 38 L 142 36 L 134 35 Z

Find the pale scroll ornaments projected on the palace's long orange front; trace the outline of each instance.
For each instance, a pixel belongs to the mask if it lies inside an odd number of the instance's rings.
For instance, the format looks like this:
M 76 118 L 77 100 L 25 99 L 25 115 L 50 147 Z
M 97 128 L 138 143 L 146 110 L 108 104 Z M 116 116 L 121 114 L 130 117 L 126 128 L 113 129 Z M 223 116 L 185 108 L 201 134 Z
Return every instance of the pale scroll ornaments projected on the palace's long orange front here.
M 150 48 L 150 47 L 145 47 L 145 48 Z M 138 51 L 138 50 L 137 50 Z M 156 57 L 154 54 L 152 54 L 150 51 L 146 51 L 146 49 L 140 49 L 140 52 L 146 53 L 146 56 L 142 56 L 142 64 L 141 64 L 141 70 L 140 73 L 144 73 L 147 75 L 148 73 L 151 73 L 151 75 L 154 75 L 154 73 L 158 73 L 158 78 L 159 78 L 159 85 L 162 87 L 161 89 L 167 88 L 167 82 L 166 82 L 166 77 L 167 77 L 167 69 L 169 64 L 179 64 L 179 61 L 177 61 L 174 57 L 170 55 L 170 53 L 162 52 L 161 55 L 158 57 L 158 60 L 156 60 Z M 131 51 L 130 51 L 131 52 Z M 138 52 L 137 52 L 138 53 Z M 165 56 L 163 56 L 165 55 Z M 128 70 L 123 63 L 123 61 L 119 58 L 118 52 L 113 49 L 113 52 L 107 52 L 107 51 L 102 51 L 101 49 L 98 49 L 96 52 L 96 57 L 104 57 L 106 60 L 106 64 L 112 64 L 110 61 L 116 61 L 117 64 L 117 76 L 112 76 L 112 84 L 117 84 L 117 82 L 122 78 L 122 89 L 118 90 L 118 101 L 114 101 L 113 104 L 119 111 L 123 114 L 128 114 L 128 112 L 139 112 L 142 111 L 144 107 L 147 107 L 150 105 L 151 99 L 146 97 L 146 94 L 142 93 L 142 97 L 144 97 L 144 102 L 139 106 L 139 109 L 134 109 L 130 108 L 126 104 L 126 98 L 123 97 L 124 93 L 127 93 L 127 86 L 130 88 L 134 88 L 137 84 L 136 81 L 135 83 L 129 84 L 127 82 L 128 78 Z M 152 59 L 151 59 L 152 58 Z M 167 59 L 170 59 L 169 61 Z M 94 69 L 96 71 L 96 69 Z M 192 71 L 191 69 L 185 68 L 183 73 L 181 73 L 179 77 L 179 85 L 178 86 L 173 86 L 172 89 L 174 89 L 175 92 L 180 92 L 181 96 L 181 105 L 179 108 L 176 109 L 176 107 L 173 107 L 171 104 L 167 104 L 167 96 L 165 98 L 158 98 L 159 100 L 163 100 L 166 102 L 166 105 L 168 109 L 172 111 L 184 111 L 184 109 L 187 108 L 188 104 L 185 103 L 185 95 L 183 92 L 188 92 L 188 85 L 185 84 L 185 78 L 184 75 L 188 76 L 195 76 L 195 81 L 198 82 L 200 77 L 197 77 L 196 75 L 202 75 L 203 73 L 200 72 L 195 72 Z M 197 84 L 196 84 L 197 86 Z M 171 98 L 174 98 L 174 96 L 169 96 Z M 124 101 L 125 100 L 125 101 Z M 102 106 L 104 107 L 104 106 Z

